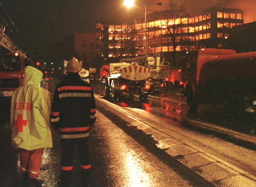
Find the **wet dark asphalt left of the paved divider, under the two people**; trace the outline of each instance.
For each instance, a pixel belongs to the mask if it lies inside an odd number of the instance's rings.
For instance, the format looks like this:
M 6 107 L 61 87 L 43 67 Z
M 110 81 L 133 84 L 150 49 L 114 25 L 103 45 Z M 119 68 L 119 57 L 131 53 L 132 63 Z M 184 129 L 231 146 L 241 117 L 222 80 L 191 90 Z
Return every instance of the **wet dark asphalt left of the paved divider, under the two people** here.
M 151 143 L 129 136 L 129 130 L 97 112 L 97 122 L 90 135 L 92 162 L 91 187 L 178 187 L 205 186 L 205 181 L 169 157 L 161 156 Z M 119 123 L 119 122 L 117 122 Z M 1 123 L 0 186 L 21 187 L 19 152 L 10 144 L 9 119 Z M 57 187 L 60 176 L 60 141 L 53 134 L 53 148 L 44 150 L 40 179 L 44 187 Z M 73 184 L 79 184 L 79 157 L 74 154 Z

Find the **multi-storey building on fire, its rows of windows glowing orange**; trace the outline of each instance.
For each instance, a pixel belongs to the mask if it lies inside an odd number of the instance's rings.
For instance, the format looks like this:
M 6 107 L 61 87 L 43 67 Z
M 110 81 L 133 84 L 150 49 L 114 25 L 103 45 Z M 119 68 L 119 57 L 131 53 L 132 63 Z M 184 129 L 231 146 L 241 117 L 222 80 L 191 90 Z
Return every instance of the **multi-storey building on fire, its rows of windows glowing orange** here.
M 155 12 L 153 14 L 160 14 Z M 177 30 L 175 49 L 177 52 L 192 51 L 201 48 L 228 48 L 228 39 L 232 28 L 244 23 L 244 14 L 240 9 L 211 8 L 195 17 L 176 19 L 166 22 L 166 18 L 154 19 L 147 16 L 147 35 L 145 22 L 136 24 L 96 24 L 96 54 L 104 60 L 127 58 L 145 54 L 173 52 L 173 43 L 167 27 L 180 24 Z

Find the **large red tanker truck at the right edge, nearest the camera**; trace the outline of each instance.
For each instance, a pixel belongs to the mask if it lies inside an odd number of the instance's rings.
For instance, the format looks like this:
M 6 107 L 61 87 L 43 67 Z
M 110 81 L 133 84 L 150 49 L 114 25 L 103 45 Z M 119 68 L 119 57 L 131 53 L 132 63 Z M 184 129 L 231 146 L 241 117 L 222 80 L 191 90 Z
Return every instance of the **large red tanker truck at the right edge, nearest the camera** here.
M 229 114 L 256 111 L 256 52 L 202 49 L 182 59 L 184 95 L 191 110 L 199 103 L 224 104 Z

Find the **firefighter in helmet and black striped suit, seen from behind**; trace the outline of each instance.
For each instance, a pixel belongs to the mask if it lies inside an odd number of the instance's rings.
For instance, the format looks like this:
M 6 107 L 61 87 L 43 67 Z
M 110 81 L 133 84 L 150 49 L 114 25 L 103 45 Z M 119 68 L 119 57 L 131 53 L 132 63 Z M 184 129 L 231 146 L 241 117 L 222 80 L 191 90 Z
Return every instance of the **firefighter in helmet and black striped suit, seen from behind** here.
M 81 182 L 89 186 L 91 163 L 88 155 L 88 136 L 96 120 L 96 107 L 90 84 L 78 74 L 82 62 L 71 58 L 66 67 L 68 76 L 56 87 L 51 110 L 51 124 L 59 129 L 61 154 L 61 186 L 71 186 L 72 156 L 77 144 L 80 156 Z

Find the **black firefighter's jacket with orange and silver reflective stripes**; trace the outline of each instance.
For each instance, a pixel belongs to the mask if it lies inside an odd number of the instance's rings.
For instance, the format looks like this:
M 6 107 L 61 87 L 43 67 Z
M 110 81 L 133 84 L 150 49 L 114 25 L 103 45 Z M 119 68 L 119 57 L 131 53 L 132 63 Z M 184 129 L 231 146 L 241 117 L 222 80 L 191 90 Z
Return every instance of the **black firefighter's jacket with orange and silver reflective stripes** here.
M 96 120 L 96 106 L 90 84 L 77 73 L 69 74 L 55 89 L 51 124 L 59 128 L 60 138 L 89 136 L 90 127 Z

